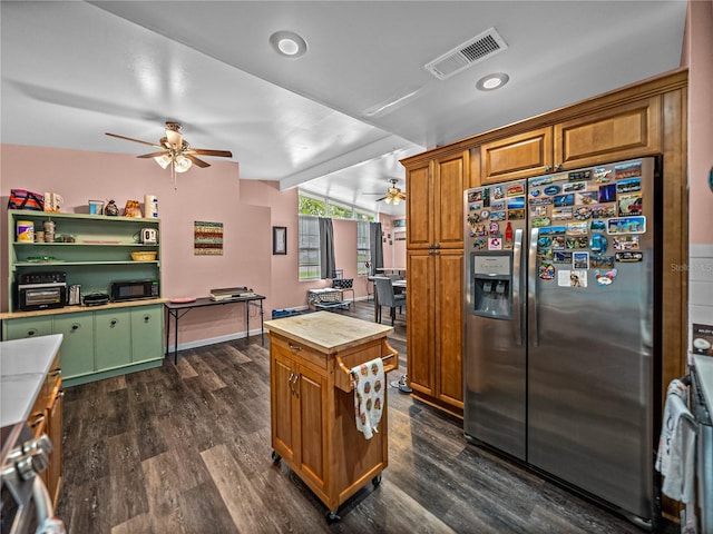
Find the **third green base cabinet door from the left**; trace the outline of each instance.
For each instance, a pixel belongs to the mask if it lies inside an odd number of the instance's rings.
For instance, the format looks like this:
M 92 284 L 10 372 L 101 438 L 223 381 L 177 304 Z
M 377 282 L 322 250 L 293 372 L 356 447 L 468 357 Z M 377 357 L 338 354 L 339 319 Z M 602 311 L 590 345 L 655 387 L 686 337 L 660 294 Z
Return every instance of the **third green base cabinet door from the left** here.
M 131 363 L 131 309 L 95 312 L 95 362 L 97 370 Z

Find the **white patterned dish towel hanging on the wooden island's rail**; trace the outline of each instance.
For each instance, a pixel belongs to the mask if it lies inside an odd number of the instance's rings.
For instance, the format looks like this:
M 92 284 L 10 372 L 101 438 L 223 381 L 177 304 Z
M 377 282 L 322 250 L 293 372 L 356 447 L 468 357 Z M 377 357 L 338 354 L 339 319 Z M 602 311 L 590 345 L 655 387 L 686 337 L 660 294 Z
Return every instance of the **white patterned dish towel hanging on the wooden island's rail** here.
M 385 376 L 381 358 L 353 367 L 352 380 L 354 383 L 356 429 L 362 432 L 367 439 L 371 439 L 378 432 L 377 426 L 379 426 L 384 408 Z

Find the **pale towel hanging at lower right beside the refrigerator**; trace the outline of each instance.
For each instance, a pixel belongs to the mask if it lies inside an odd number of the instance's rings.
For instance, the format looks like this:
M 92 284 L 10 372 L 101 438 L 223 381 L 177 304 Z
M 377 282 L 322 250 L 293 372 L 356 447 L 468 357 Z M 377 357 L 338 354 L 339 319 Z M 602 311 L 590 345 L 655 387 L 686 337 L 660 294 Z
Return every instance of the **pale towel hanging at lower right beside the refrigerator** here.
M 695 498 L 696 428 L 687 405 L 688 388 L 678 379 L 672 380 L 666 390 L 656 471 L 664 476 L 662 492 L 682 503 Z

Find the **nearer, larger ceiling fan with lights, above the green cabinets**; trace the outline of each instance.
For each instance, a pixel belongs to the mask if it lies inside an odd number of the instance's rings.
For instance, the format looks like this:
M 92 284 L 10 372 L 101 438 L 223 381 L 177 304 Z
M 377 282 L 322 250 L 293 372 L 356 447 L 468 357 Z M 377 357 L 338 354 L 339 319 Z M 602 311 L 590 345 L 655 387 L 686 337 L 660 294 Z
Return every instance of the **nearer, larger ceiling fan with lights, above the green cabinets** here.
M 150 141 L 141 141 L 140 139 L 133 139 L 126 136 L 119 136 L 117 134 L 106 132 L 107 136 L 116 137 L 118 139 L 125 139 L 127 141 L 140 142 L 141 145 L 148 145 L 149 147 L 158 148 L 157 152 L 143 154 L 137 158 L 154 158 L 162 168 L 166 168 L 170 165 L 170 177 L 174 187 L 177 188 L 176 172 L 185 172 L 193 164 L 198 167 L 211 167 L 211 164 L 197 156 L 215 156 L 219 158 L 232 158 L 233 152 L 229 150 L 211 150 L 205 148 L 191 148 L 188 141 L 183 138 L 180 134 L 179 122 L 166 122 L 166 137 L 162 137 L 158 144 Z

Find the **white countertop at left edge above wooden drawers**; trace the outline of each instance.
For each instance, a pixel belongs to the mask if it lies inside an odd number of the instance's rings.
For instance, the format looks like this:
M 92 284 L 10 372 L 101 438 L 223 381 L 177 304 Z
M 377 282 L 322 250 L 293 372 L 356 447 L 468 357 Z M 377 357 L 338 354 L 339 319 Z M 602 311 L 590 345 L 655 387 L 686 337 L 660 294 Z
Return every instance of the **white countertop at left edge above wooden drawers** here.
M 0 427 L 27 421 L 62 335 L 0 343 Z

